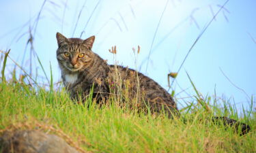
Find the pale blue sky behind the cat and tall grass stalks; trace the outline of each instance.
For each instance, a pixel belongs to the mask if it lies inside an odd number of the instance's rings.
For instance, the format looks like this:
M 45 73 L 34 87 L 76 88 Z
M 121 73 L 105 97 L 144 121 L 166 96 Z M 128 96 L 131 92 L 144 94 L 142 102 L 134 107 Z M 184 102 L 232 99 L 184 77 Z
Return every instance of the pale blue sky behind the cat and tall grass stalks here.
M 95 35 L 92 50 L 109 64 L 137 69 L 168 89 L 167 74 L 178 71 L 197 37 L 225 2 L 0 0 L 0 50 L 11 49 L 10 57 L 27 72 L 32 59 L 33 77 L 38 72 L 38 81 L 46 83 L 37 58 L 30 55 L 31 44 L 27 45 L 31 31 L 33 48 L 46 75 L 51 75 L 51 63 L 53 80 L 59 82 L 56 33 L 81 39 Z M 195 95 L 188 75 L 203 97 L 216 92 L 217 98 L 235 103 L 238 109 L 248 107 L 253 97 L 255 107 L 255 8 L 253 0 L 228 1 L 201 35 L 172 84 L 180 108 Z M 138 45 L 141 51 L 134 55 L 132 48 L 137 50 Z M 115 58 L 109 53 L 111 46 L 117 46 Z M 8 71 L 13 67 L 8 61 Z

